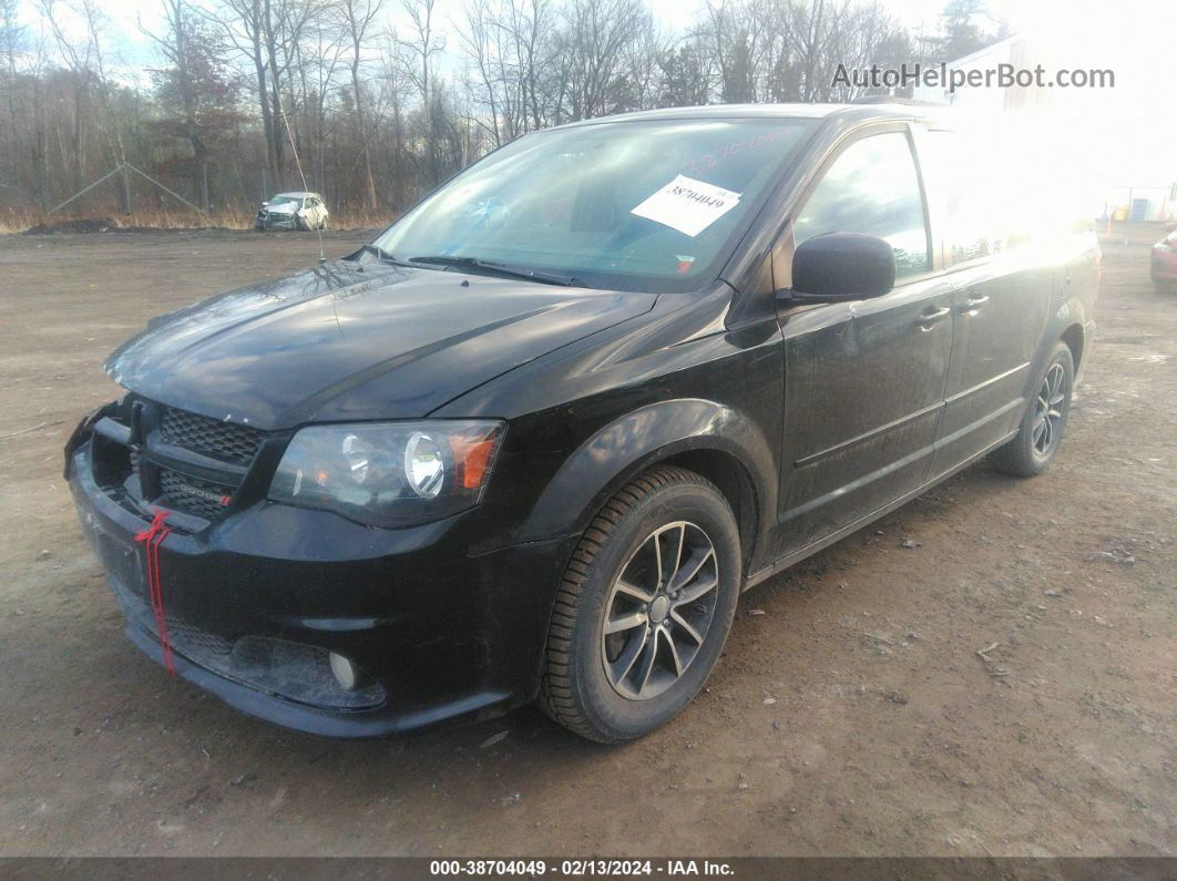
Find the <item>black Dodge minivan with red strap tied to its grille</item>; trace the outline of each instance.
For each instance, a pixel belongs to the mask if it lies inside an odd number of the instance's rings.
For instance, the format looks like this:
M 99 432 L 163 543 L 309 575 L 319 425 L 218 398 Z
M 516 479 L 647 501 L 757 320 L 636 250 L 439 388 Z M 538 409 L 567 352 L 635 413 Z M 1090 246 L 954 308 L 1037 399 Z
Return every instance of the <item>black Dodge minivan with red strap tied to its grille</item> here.
M 153 320 L 66 450 L 127 635 L 332 736 L 666 722 L 740 590 L 1058 449 L 1096 240 L 977 146 L 902 105 L 588 120 Z

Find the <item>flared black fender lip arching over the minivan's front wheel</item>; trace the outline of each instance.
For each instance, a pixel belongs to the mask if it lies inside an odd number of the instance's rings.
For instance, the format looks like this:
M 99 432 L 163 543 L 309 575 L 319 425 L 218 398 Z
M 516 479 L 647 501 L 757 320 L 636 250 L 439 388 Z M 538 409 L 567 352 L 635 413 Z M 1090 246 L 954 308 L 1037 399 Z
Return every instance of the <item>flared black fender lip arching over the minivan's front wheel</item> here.
M 710 480 L 727 500 L 746 573 L 776 509 L 774 461 L 763 433 L 725 405 L 700 399 L 649 405 L 606 425 L 565 460 L 523 538 L 579 534 L 634 476 L 656 465 L 677 465 Z

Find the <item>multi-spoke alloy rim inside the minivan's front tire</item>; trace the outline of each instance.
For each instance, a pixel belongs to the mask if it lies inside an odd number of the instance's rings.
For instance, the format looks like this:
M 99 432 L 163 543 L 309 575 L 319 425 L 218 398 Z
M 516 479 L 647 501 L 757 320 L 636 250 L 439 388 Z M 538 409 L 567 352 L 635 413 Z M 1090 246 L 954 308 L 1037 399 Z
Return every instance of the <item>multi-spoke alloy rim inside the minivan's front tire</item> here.
M 638 546 L 605 601 L 605 676 L 630 700 L 681 678 L 707 638 L 719 595 L 716 548 L 694 523 L 661 526 Z

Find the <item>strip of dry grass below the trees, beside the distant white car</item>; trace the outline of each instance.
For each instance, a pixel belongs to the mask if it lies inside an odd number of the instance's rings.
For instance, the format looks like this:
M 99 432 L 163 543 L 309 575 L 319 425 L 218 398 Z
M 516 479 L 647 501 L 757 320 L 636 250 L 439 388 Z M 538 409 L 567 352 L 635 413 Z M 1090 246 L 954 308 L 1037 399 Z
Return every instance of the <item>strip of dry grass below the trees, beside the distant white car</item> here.
M 121 209 L 109 207 L 107 211 L 87 211 L 85 213 L 61 212 L 46 216 L 39 211 L 27 208 L 0 208 L 0 235 L 22 233 L 36 226 L 66 223 L 69 221 L 92 220 L 95 223 L 114 228 L 154 228 L 154 229 L 200 229 L 218 227 L 222 229 L 252 229 L 257 208 L 226 208 L 201 214 L 194 211 L 167 211 L 151 208 L 135 211 L 129 216 Z M 332 229 L 378 229 L 395 219 L 392 212 L 354 212 L 347 209 L 332 211 L 330 226 Z

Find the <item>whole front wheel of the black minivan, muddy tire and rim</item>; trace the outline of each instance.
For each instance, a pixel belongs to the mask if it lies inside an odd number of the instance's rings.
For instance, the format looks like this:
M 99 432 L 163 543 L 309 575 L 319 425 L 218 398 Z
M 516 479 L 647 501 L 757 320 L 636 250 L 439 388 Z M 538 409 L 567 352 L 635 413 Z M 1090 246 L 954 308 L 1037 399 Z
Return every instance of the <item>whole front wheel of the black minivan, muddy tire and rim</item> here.
M 601 743 L 673 719 L 731 629 L 739 529 L 723 494 L 660 466 L 618 490 L 572 553 L 548 627 L 540 708 Z

